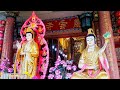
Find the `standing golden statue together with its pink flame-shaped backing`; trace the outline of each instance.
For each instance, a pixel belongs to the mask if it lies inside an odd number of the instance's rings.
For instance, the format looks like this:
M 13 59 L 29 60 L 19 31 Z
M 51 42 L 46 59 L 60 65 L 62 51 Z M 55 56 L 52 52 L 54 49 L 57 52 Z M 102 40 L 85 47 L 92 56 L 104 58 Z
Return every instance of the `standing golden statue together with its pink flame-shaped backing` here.
M 46 29 L 33 11 L 20 30 L 21 43 L 17 42 L 14 74 L 28 79 L 44 79 L 49 64 L 49 48 L 44 38 Z

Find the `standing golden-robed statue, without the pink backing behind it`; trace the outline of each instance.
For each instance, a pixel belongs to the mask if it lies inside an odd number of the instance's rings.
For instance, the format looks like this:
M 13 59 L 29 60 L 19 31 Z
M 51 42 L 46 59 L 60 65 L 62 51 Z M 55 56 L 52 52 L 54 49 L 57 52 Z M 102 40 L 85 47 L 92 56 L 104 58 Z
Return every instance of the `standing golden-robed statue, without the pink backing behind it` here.
M 31 28 L 25 30 L 26 41 L 17 43 L 18 51 L 16 60 L 21 63 L 20 74 L 29 74 L 30 77 L 36 75 L 37 60 L 39 57 L 38 44 L 34 41 L 34 31 Z

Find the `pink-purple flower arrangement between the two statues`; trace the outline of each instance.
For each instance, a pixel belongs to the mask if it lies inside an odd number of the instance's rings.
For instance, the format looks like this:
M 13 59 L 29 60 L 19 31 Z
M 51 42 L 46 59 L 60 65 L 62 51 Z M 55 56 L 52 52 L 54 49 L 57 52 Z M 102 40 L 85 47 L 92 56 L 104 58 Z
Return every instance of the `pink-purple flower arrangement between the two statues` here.
M 48 79 L 70 79 L 72 73 L 77 70 L 73 60 L 61 60 L 60 57 L 55 62 L 55 66 L 49 69 Z

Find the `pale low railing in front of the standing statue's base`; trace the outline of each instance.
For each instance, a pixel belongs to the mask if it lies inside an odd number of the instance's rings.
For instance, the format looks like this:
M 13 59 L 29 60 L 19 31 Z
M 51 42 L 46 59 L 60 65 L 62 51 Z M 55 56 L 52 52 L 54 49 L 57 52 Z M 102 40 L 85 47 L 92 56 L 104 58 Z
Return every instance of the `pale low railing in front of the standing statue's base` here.
M 2 73 L 0 79 L 29 79 L 25 74 L 14 74 L 14 73 Z

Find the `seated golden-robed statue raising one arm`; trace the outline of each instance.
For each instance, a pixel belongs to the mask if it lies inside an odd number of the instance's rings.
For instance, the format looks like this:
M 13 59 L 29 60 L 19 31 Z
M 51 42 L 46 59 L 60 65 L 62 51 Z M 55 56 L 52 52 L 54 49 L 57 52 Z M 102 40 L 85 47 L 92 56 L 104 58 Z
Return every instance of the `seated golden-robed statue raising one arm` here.
M 106 33 L 108 34 L 108 32 Z M 105 35 L 104 35 L 105 36 Z M 100 49 L 96 45 L 96 36 L 93 29 L 88 29 L 86 37 L 87 47 L 82 51 L 78 67 L 81 69 L 74 72 L 71 79 L 109 79 L 109 64 L 104 50 L 109 42 L 109 35 L 105 38 L 105 44 Z

